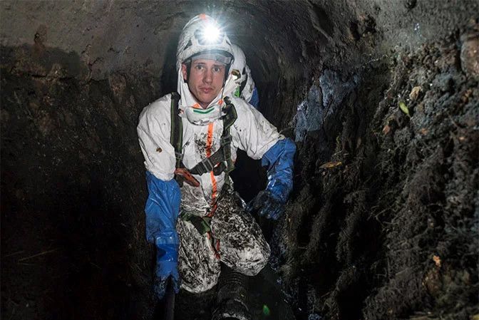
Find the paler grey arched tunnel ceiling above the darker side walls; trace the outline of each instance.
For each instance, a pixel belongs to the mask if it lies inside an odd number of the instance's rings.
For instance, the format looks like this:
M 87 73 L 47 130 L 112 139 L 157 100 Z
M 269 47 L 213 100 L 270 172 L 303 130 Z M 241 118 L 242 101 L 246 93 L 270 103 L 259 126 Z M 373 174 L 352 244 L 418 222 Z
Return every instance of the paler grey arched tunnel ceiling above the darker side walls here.
M 151 75 L 162 79 L 165 91 L 172 91 L 177 36 L 191 16 L 208 12 L 244 49 L 255 81 L 264 87 L 266 108 L 275 105 L 267 112 L 272 117 L 278 104 L 298 100 L 299 93 L 291 94 L 297 91 L 293 87 L 298 81 L 307 85 L 323 64 L 347 72 L 390 48 L 418 46 L 465 21 L 470 5 L 477 3 L 2 1 L 1 44 L 41 43 L 48 50 L 78 56 L 81 66 L 68 70 L 77 78 L 100 80 L 113 72 Z M 451 9 L 458 14 L 450 16 Z M 358 51 L 362 54 L 355 54 Z

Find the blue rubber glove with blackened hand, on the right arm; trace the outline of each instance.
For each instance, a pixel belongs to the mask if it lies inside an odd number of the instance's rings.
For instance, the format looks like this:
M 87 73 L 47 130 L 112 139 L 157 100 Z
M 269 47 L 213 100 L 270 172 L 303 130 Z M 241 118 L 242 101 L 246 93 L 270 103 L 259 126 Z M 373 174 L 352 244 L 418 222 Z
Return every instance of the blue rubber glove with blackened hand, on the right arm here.
M 293 189 L 293 161 L 296 145 L 291 139 L 279 140 L 263 155 L 261 164 L 268 166 L 266 190 L 258 193 L 248 209 L 258 215 L 277 220 Z

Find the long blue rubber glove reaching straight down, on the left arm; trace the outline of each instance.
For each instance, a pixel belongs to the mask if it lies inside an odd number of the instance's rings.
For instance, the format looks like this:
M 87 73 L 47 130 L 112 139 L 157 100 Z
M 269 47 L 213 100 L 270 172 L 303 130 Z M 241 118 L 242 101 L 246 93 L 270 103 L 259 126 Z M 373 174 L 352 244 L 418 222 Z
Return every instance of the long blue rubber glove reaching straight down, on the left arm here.
M 181 192 L 175 180 L 163 181 L 150 172 L 146 172 L 146 181 L 146 239 L 156 246 L 154 290 L 158 299 L 162 299 L 170 277 L 175 292 L 180 290 L 177 269 L 179 241 L 175 227 L 180 212 Z

